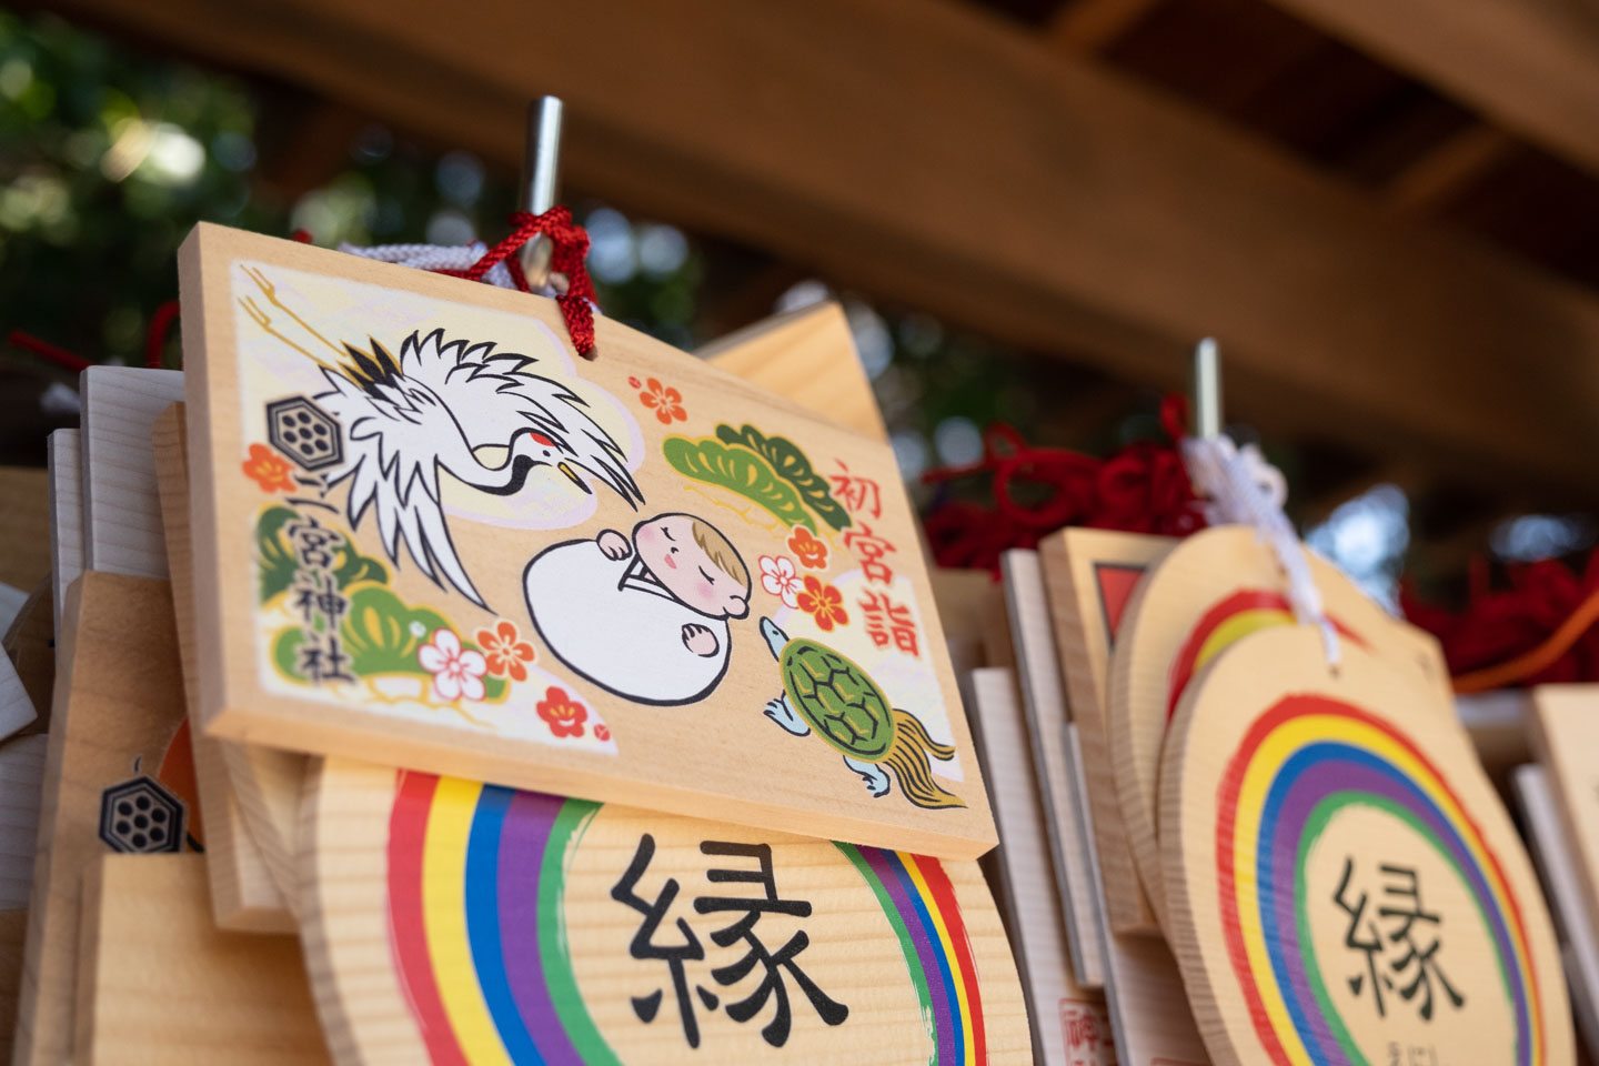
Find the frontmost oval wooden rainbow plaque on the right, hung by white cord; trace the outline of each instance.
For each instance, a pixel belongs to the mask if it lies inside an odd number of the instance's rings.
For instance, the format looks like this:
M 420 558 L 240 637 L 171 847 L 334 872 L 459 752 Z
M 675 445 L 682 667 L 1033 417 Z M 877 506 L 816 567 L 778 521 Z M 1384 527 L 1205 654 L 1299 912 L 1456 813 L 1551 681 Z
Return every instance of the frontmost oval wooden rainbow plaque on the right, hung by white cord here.
M 1573 1061 L 1516 829 L 1414 671 L 1268 626 L 1183 694 L 1161 766 L 1170 938 L 1212 1060 Z

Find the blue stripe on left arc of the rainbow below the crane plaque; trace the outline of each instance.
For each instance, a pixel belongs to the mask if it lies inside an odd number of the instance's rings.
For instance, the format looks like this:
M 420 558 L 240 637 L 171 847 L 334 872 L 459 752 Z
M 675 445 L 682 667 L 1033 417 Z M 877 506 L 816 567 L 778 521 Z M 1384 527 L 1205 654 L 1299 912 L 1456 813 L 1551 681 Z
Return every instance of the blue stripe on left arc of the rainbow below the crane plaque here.
M 516 1066 L 544 1066 L 539 1045 L 528 1032 L 505 977 L 505 953 L 499 930 L 499 844 L 505 812 L 515 798 L 510 788 L 484 785 L 467 837 L 467 941 L 478 989 L 499 1031 L 505 1053 Z

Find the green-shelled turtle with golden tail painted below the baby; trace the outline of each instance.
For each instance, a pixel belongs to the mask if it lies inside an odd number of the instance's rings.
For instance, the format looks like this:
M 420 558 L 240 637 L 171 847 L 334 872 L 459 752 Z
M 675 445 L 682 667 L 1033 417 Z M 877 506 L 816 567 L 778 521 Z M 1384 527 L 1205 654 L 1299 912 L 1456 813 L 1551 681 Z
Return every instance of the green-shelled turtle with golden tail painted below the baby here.
M 873 796 L 887 796 L 887 767 L 918 807 L 966 805 L 929 769 L 929 758 L 953 759 L 955 746 L 934 740 L 910 711 L 889 706 L 865 670 L 825 644 L 788 639 L 771 619 L 761 619 L 761 636 L 784 679 L 782 695 L 766 703 L 769 719 L 795 737 L 814 729 L 844 754 L 844 766 L 865 778 Z

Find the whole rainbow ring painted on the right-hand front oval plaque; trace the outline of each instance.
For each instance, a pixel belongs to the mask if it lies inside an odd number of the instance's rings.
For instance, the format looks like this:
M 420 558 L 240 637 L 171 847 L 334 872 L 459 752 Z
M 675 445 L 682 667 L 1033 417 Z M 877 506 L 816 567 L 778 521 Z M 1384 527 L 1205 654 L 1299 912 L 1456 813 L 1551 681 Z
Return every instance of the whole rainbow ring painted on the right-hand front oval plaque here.
M 1449 782 L 1394 726 L 1321 695 L 1292 695 L 1249 730 L 1217 790 L 1222 930 L 1262 1047 L 1278 1066 L 1366 1063 L 1330 1008 L 1303 917 L 1311 845 L 1345 805 L 1404 820 L 1471 892 L 1516 1018 L 1513 1060 L 1541 1066 L 1543 1004 L 1521 905 Z

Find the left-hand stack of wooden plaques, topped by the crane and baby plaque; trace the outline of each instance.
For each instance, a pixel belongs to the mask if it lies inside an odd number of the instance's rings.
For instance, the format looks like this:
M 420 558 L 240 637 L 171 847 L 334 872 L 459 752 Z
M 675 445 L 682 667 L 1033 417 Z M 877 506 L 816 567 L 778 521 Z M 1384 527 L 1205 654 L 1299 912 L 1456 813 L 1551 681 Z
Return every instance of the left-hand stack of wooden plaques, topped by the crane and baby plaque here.
M 181 275 L 184 372 L 53 441 L 18 1066 L 1030 1060 L 838 307 L 588 361 L 288 241 Z

